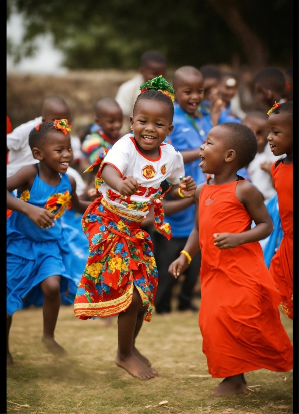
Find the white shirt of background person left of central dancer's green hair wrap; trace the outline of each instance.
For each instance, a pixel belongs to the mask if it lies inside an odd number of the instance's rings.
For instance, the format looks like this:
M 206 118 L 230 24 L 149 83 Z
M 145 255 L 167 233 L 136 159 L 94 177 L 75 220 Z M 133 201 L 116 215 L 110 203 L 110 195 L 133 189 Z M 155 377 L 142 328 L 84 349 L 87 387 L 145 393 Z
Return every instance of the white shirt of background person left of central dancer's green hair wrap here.
M 141 74 L 137 74 L 133 77 L 133 79 L 130 79 L 120 85 L 115 100 L 120 106 L 123 115 L 133 115 L 135 101 L 137 96 L 140 95 L 140 86 L 144 82 L 143 76 Z

